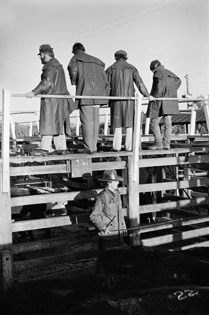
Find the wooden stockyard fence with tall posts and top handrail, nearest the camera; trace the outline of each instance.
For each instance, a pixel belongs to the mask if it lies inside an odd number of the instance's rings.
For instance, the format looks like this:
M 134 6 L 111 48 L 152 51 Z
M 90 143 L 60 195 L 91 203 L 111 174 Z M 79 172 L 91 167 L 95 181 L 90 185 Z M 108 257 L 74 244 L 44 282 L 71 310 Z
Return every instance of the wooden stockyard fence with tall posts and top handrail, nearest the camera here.
M 140 180 L 140 169 L 147 167 L 161 167 L 162 169 L 165 165 L 184 165 L 189 166 L 191 163 L 204 163 L 208 162 L 208 155 L 193 155 L 197 152 L 207 153 L 209 148 L 207 147 L 186 147 L 171 149 L 169 154 L 173 156 L 165 156 L 167 152 L 165 150 L 158 150 L 158 154 L 163 154 L 163 157 L 152 157 L 156 152 L 152 150 L 143 150 L 141 147 L 141 110 L 142 110 L 142 96 L 136 94 L 136 97 L 101 97 L 101 96 L 69 96 L 69 95 L 47 95 L 47 98 L 91 98 L 91 99 L 114 99 L 114 100 L 135 100 L 135 120 L 134 120 L 134 135 L 133 135 L 133 151 L 131 152 L 117 152 L 117 155 L 123 157 L 122 161 L 118 162 L 102 162 L 102 163 L 91 163 L 93 157 L 109 157 L 115 156 L 115 152 L 97 152 L 91 157 L 86 154 L 71 154 L 66 156 L 48 156 L 48 157 L 34 157 L 34 156 L 16 156 L 9 157 L 9 122 L 10 122 L 10 97 L 25 97 L 22 94 L 10 94 L 9 89 L 3 90 L 3 120 L 2 120 L 2 158 L 0 160 L 0 195 L 2 200 L 2 209 L 0 210 L 0 252 L 1 252 L 1 276 L 0 283 L 1 287 L 4 289 L 8 288 L 13 282 L 13 246 L 12 246 L 12 232 L 24 231 L 38 228 L 47 228 L 53 226 L 62 226 L 72 224 L 70 217 L 56 217 L 56 218 L 46 218 L 39 220 L 30 221 L 20 221 L 11 222 L 11 207 L 30 205 L 37 203 L 47 203 L 53 201 L 63 201 L 63 200 L 79 200 L 95 198 L 97 193 L 101 189 L 90 189 L 85 191 L 76 192 L 65 192 L 65 193 L 54 193 L 50 195 L 38 195 L 38 196 L 22 196 L 22 197 L 10 197 L 10 176 L 19 175 L 37 175 L 37 174 L 66 174 L 71 173 L 73 176 L 73 171 L 76 169 L 75 164 L 85 164 L 86 159 L 90 166 L 88 166 L 88 171 L 92 174 L 92 171 L 99 171 L 105 169 L 120 169 L 122 171 L 122 176 L 124 177 L 124 186 L 119 187 L 120 193 L 122 195 L 123 210 L 124 214 L 127 216 L 129 222 L 130 232 L 130 243 L 132 245 L 146 245 L 154 246 L 163 243 L 169 243 L 174 241 L 177 237 L 170 235 L 167 237 L 149 238 L 145 240 L 140 239 L 140 233 L 154 231 L 158 229 L 165 229 L 168 227 L 182 226 L 192 224 L 191 222 L 206 222 L 209 221 L 209 215 L 205 215 L 201 218 L 189 218 L 186 220 L 181 220 L 176 222 L 169 221 L 163 223 L 155 223 L 148 226 L 140 227 L 140 214 L 148 212 L 158 212 L 162 210 L 172 210 L 176 208 L 186 208 L 194 205 L 209 204 L 209 196 L 204 196 L 195 199 L 184 199 L 177 200 L 167 203 L 157 203 L 157 204 L 146 204 L 140 205 L 139 193 L 141 192 L 156 192 L 156 191 L 166 191 L 168 189 L 181 189 L 194 186 L 209 185 L 208 178 L 196 178 L 195 180 L 171 181 L 165 182 L 162 176 L 162 182 L 145 184 L 139 182 Z M 34 97 L 40 98 L 43 95 L 36 95 Z M 164 98 L 159 98 L 158 100 L 165 100 Z M 187 102 L 186 99 L 174 99 L 166 98 L 166 100 L 179 100 Z M 208 105 L 205 99 L 189 99 L 189 101 L 204 101 L 206 112 L 208 112 Z M 208 120 L 209 122 L 209 120 Z M 183 154 L 183 155 L 182 155 Z M 192 155 L 191 155 L 192 154 Z M 182 155 L 182 156 L 178 156 Z M 152 157 L 152 158 L 149 158 Z M 51 164 L 51 161 L 63 160 L 60 164 Z M 76 161 L 76 163 L 74 163 Z M 34 162 L 43 163 L 43 165 L 33 165 Z M 23 163 L 23 164 L 22 164 Z M 16 165 L 20 166 L 16 166 Z M 23 166 L 21 166 L 23 165 Z M 79 176 L 86 169 L 79 168 Z M 83 172 L 83 173 L 82 173 Z M 78 176 L 78 177 L 79 177 Z M 49 184 L 51 182 L 49 180 Z M 187 231 L 188 232 L 188 231 Z M 178 239 L 194 237 L 193 232 L 186 234 L 181 233 Z M 193 233 L 193 235 L 192 235 Z M 196 236 L 206 235 L 209 233 L 209 227 L 204 229 L 197 229 Z

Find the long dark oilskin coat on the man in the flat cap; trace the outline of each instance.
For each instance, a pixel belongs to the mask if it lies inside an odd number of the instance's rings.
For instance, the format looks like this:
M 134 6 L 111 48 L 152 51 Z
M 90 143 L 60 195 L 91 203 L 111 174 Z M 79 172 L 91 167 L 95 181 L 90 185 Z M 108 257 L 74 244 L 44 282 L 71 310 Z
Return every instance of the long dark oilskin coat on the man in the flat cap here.
M 107 68 L 110 96 L 134 96 L 134 83 L 144 96 L 150 96 L 136 68 L 123 59 Z M 134 100 L 110 100 L 110 121 L 112 128 L 133 127 Z

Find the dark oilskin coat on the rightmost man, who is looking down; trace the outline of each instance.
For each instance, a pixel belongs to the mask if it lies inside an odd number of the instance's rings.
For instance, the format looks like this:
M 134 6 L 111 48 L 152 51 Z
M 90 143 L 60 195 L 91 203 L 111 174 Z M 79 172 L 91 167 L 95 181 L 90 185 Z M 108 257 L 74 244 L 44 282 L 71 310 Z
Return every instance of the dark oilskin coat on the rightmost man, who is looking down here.
M 177 97 L 177 89 L 181 85 L 181 80 L 173 72 L 158 66 L 153 70 L 153 85 L 151 95 L 158 97 Z M 147 117 L 156 118 L 163 115 L 178 115 L 178 101 L 159 100 L 148 103 Z

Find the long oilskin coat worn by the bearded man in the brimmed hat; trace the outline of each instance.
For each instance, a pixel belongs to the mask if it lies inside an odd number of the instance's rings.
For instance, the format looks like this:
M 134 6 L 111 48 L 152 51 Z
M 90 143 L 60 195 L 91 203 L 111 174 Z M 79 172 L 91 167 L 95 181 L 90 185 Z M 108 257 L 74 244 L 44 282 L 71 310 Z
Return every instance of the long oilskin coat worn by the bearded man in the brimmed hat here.
M 42 69 L 41 82 L 32 92 L 49 95 L 70 95 L 67 90 L 65 73 L 62 65 L 54 57 Z M 39 135 L 63 134 L 66 121 L 66 132 L 70 134 L 69 114 L 76 109 L 72 99 L 41 98 Z

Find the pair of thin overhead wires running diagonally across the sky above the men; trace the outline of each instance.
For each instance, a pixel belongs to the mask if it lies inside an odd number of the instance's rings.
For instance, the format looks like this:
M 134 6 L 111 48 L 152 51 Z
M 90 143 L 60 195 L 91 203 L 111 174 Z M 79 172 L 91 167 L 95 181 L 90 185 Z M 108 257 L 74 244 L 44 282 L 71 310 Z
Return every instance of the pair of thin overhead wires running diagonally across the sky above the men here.
M 166 1 L 166 0 L 164 0 L 164 1 Z M 104 32 L 104 31 L 108 31 L 108 30 L 110 30 L 110 29 L 112 29 L 112 28 L 115 28 L 115 27 L 117 27 L 117 26 L 124 25 L 124 24 L 126 24 L 126 23 L 129 23 L 129 22 L 131 22 L 131 21 L 137 20 L 137 19 L 142 18 L 142 17 L 144 17 L 144 16 L 146 16 L 146 15 L 148 15 L 148 14 L 157 12 L 157 11 L 162 10 L 162 9 L 165 9 L 165 8 L 167 8 L 167 7 L 170 7 L 171 5 L 174 5 L 174 4 L 179 3 L 179 2 L 182 2 L 182 1 L 184 1 L 184 0 L 176 1 L 176 2 L 174 2 L 174 3 L 171 3 L 171 4 L 169 4 L 169 5 L 166 5 L 165 7 L 162 7 L 162 8 L 160 8 L 160 9 L 156 9 L 156 10 L 154 10 L 154 11 L 152 11 L 152 12 L 149 12 L 149 13 L 146 13 L 146 14 L 143 14 L 143 15 L 141 15 L 141 16 L 139 16 L 139 17 L 137 17 L 137 18 L 134 18 L 134 19 L 132 19 L 132 20 L 126 21 L 126 22 L 121 23 L 121 24 L 118 24 L 118 25 L 116 25 L 116 26 L 109 27 L 109 28 L 107 28 L 106 30 L 99 31 L 99 32 L 97 32 L 97 33 L 94 33 L 94 34 L 85 36 L 85 37 L 83 37 L 83 38 L 77 39 L 77 41 L 78 41 L 78 40 L 81 40 L 81 39 L 84 39 L 84 38 L 91 37 L 91 36 L 96 35 L 96 34 L 99 34 L 99 33 L 102 33 L 102 32 Z M 161 1 L 161 2 L 163 2 L 163 1 Z M 159 2 L 159 3 L 160 3 L 160 2 Z M 155 4 L 158 4 L 158 3 L 155 3 Z M 153 5 L 155 5 L 155 4 L 153 4 Z M 153 6 L 153 5 L 152 5 L 152 6 Z M 149 8 L 149 7 L 147 7 L 147 8 Z M 144 8 L 144 9 L 147 9 L 147 8 Z M 139 10 L 139 11 L 141 11 L 141 10 Z M 139 12 L 139 11 L 136 11 L 136 12 Z M 136 13 L 136 12 L 134 12 L 134 13 Z M 133 14 L 133 13 L 131 13 L 131 14 Z M 128 15 L 131 15 L 131 14 L 128 14 Z M 127 16 L 127 15 L 125 15 L 125 16 Z M 121 19 L 121 18 L 119 18 L 119 19 Z M 116 19 L 116 20 L 119 20 L 119 19 Z M 113 22 L 113 21 L 112 21 L 112 22 Z M 107 24 L 112 23 L 112 22 L 108 22 Z M 106 24 L 103 24 L 103 25 L 106 25 Z M 100 26 L 97 26 L 97 27 L 100 27 Z M 96 28 L 97 28 L 97 27 L 96 27 Z M 84 32 L 82 32 L 82 33 L 84 33 Z M 79 34 L 82 34 L 82 33 L 79 33 Z M 74 36 L 76 36 L 76 35 L 74 35 Z M 68 38 L 71 38 L 71 37 L 68 37 Z M 63 40 L 64 40 L 64 39 L 63 39 Z M 55 42 L 55 43 L 58 43 L 58 42 Z M 69 44 L 71 44 L 71 43 L 74 43 L 74 41 L 73 41 L 73 42 L 70 42 L 70 43 L 67 43 L 67 44 L 64 44 L 64 45 L 61 45 L 61 46 L 57 46 L 56 48 L 60 48 L 60 47 L 66 46 L 66 45 L 69 45 Z M 35 49 L 34 49 L 34 50 L 35 50 Z M 30 52 L 32 52 L 32 51 L 34 51 L 34 50 L 31 50 Z M 25 53 L 23 53 L 23 54 L 25 54 Z M 22 54 L 20 54 L 20 55 L 22 55 Z M 16 56 L 14 56 L 14 57 L 18 57 L 18 56 L 20 56 L 20 55 L 16 55 Z M 21 59 L 18 59 L 18 60 L 10 61 L 10 62 L 1 64 L 0 66 L 4 66 L 4 65 L 8 65 L 8 64 L 10 64 L 10 63 L 16 62 L 16 61 L 24 60 L 24 59 L 30 58 L 30 57 L 32 57 L 32 56 L 35 56 L 35 55 L 36 55 L 36 54 L 33 54 L 33 55 L 31 55 L 31 56 L 28 56 L 28 57 L 24 57 L 24 58 L 21 58 Z M 7 58 L 7 59 L 11 59 L 11 58 L 14 58 L 14 57 L 10 57 L 10 58 Z M 7 60 L 7 59 L 4 59 L 4 60 Z M 4 60 L 1 60 L 1 61 L 4 61 Z

